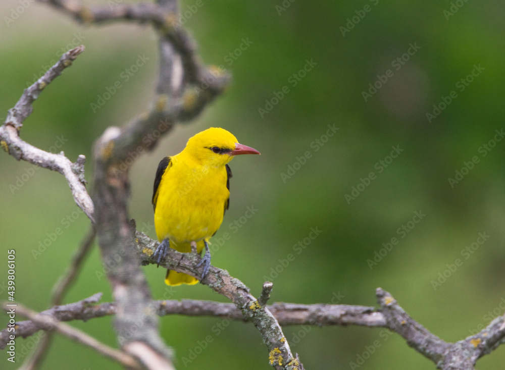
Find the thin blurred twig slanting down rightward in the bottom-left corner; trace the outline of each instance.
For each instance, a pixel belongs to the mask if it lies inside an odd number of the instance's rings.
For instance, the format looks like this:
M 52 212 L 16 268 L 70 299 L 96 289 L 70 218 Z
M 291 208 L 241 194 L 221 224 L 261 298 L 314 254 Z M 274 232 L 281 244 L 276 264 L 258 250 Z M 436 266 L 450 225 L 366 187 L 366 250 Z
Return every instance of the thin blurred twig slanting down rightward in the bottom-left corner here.
M 7 307 L 4 306 L 4 309 L 6 308 Z M 16 312 L 23 316 L 26 316 L 28 319 L 30 319 L 31 322 L 33 322 L 40 329 L 46 331 L 56 330 L 58 333 L 63 334 L 64 336 L 72 339 L 73 341 L 91 347 L 98 353 L 106 357 L 112 358 L 113 360 L 118 361 L 124 366 L 132 368 L 140 368 L 139 363 L 133 356 L 118 351 L 117 349 L 111 348 L 104 343 L 100 343 L 99 341 L 97 341 L 93 337 L 90 337 L 86 333 L 83 333 L 78 329 L 72 328 L 67 324 L 60 323 L 59 321 L 55 320 L 52 316 L 39 314 L 31 309 L 24 307 L 21 304 L 17 305 Z

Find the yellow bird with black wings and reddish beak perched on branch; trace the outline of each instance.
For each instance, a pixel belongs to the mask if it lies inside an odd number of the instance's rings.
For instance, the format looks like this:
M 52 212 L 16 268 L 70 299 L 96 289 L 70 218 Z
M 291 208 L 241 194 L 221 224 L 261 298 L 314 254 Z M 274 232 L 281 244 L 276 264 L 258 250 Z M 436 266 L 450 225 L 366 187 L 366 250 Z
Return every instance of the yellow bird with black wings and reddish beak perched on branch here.
M 201 278 L 211 265 L 207 242 L 216 234 L 229 206 L 231 170 L 228 166 L 238 154 L 260 154 L 239 144 L 236 137 L 222 128 L 212 127 L 189 138 L 186 147 L 161 160 L 153 191 L 155 228 L 161 244 L 154 257 L 160 263 L 168 247 L 179 252 L 196 251 L 205 255 Z M 167 271 L 168 285 L 196 284 L 190 275 Z

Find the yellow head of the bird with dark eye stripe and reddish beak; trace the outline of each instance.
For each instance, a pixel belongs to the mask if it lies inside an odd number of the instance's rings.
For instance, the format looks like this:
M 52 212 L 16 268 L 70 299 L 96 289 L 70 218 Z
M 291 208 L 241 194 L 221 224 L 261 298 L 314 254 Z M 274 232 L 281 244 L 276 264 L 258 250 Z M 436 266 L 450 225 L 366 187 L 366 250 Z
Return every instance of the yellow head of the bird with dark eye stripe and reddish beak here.
M 184 151 L 203 165 L 221 167 L 238 154 L 260 154 L 254 148 L 242 145 L 225 129 L 211 127 L 190 137 Z

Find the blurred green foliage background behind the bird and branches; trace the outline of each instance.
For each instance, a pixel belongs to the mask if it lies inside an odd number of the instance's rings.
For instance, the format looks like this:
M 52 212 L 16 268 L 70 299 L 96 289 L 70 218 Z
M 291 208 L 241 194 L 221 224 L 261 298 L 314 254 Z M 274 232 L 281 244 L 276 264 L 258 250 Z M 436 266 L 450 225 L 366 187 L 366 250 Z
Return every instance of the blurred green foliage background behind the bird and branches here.
M 213 265 L 239 278 L 252 294 L 258 296 L 269 279 L 271 302 L 375 305 L 375 288 L 382 287 L 450 342 L 505 312 L 505 140 L 495 132 L 505 126 L 502 2 L 187 0 L 181 10 L 203 61 L 229 69 L 233 83 L 201 116 L 177 125 L 133 166 L 130 216 L 138 229 L 156 237 L 150 198 L 159 160 L 179 152 L 193 134 L 221 126 L 262 153 L 231 163 L 230 209 L 213 244 Z M 3 1 L 0 13 L 4 118 L 23 89 L 64 51 L 86 46 L 34 103 L 21 137 L 45 150 L 61 146 L 58 151 L 72 161 L 85 154 L 92 191 L 93 141 L 106 127 L 122 126 L 144 112 L 154 97 L 156 33 L 148 25 L 81 26 L 30 1 Z M 128 75 L 139 57 L 147 60 Z M 116 93 L 93 109 L 117 81 Z M 365 99 L 370 84 L 379 88 Z M 457 96 L 444 107 L 451 91 Z M 441 111 L 428 119 L 433 104 Z M 339 129 L 325 137 L 328 125 Z M 495 135 L 501 141 L 494 141 Z M 392 146 L 401 151 L 388 158 Z M 464 169 L 463 179 L 451 186 L 448 179 L 473 157 L 478 163 L 467 164 L 471 170 Z M 5 153 L 0 169 L 0 255 L 5 261 L 7 249 L 16 250 L 16 301 L 43 310 L 89 222 L 77 212 L 60 174 L 34 170 Z M 358 196 L 346 198 L 353 187 Z M 248 207 L 255 209 L 250 218 Z M 425 216 L 415 217 L 416 212 Z M 34 253 L 57 228 L 62 235 Z M 321 231 L 313 240 L 311 228 Z M 218 243 L 225 233 L 229 240 Z M 479 233 L 489 237 L 473 250 L 472 243 L 483 241 Z M 294 247 L 304 238 L 309 238 L 305 249 Z M 397 244 L 382 249 L 392 238 Z M 461 266 L 454 265 L 458 258 Z M 0 282 L 6 280 L 5 265 L 0 263 Z M 166 287 L 162 269 L 143 270 L 155 299 L 226 302 L 206 286 Z M 65 303 L 96 292 L 109 301 L 110 287 L 100 271 L 95 247 Z M 116 346 L 112 320 L 71 324 Z M 6 322 L 2 315 L 1 326 Z M 251 324 L 167 316 L 160 325 L 179 369 L 271 368 Z M 308 369 L 435 368 L 381 328 L 284 329 Z M 19 366 L 34 340 L 17 340 L 16 366 L 0 352 L 0 367 Z M 199 346 L 201 353 L 185 360 L 191 351 L 200 352 Z M 504 360 L 501 346 L 477 367 L 502 368 Z M 42 368 L 121 367 L 56 336 Z

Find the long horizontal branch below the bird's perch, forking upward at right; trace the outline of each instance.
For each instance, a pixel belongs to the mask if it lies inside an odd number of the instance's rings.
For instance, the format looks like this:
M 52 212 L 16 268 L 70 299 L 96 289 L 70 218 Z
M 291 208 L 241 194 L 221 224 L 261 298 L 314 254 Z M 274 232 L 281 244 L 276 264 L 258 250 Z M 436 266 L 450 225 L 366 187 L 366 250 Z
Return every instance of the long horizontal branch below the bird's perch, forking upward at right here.
M 213 268 L 216 269 L 216 268 Z M 219 270 L 219 269 L 216 269 Z M 221 270 L 222 271 L 222 270 Z M 188 273 L 189 271 L 183 271 Z M 226 272 L 225 272 L 226 273 Z M 388 292 L 377 289 L 381 308 L 343 304 L 274 303 L 267 306 L 282 326 L 347 326 L 382 327 L 398 333 L 418 352 L 431 359 L 444 370 L 473 369 L 475 362 L 492 352 L 505 341 L 505 318 L 498 316 L 481 332 L 457 343 L 446 343 L 431 334 L 396 303 Z M 97 293 L 83 301 L 55 306 L 41 312 L 58 321 L 90 320 L 116 314 L 114 303 L 92 304 L 99 300 Z M 187 316 L 212 316 L 222 319 L 250 321 L 243 310 L 233 303 L 200 300 L 157 300 L 151 302 L 157 314 L 182 314 Z M 17 323 L 15 335 L 27 337 L 40 330 L 31 321 Z M 12 333 L 11 333 L 12 334 Z M 8 342 L 7 329 L 0 332 L 0 348 Z

